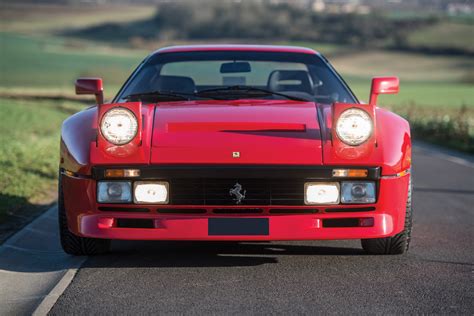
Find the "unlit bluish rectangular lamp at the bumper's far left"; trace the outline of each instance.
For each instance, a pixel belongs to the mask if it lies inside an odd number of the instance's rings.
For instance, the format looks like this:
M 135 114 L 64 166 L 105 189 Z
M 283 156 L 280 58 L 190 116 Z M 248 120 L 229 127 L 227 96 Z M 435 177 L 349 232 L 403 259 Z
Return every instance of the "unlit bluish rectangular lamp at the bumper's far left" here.
M 132 185 L 127 181 L 97 182 L 97 202 L 129 203 L 132 202 Z

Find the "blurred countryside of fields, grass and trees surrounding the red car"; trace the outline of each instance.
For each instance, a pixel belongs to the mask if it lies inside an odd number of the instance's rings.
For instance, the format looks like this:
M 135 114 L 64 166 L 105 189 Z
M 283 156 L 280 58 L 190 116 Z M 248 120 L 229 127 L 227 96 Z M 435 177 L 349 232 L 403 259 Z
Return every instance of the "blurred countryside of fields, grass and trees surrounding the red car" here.
M 379 99 L 415 140 L 474 153 L 472 0 L 0 0 L 0 243 L 56 199 L 61 122 L 112 98 L 151 51 L 189 43 L 301 45 L 323 53 L 361 100 Z

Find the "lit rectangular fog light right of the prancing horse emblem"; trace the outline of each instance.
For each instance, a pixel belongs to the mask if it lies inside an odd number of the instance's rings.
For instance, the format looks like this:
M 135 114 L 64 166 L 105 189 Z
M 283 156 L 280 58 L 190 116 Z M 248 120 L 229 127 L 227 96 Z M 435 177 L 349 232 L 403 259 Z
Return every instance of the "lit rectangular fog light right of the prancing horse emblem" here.
M 304 203 L 307 205 L 339 203 L 339 183 L 337 182 L 305 183 Z

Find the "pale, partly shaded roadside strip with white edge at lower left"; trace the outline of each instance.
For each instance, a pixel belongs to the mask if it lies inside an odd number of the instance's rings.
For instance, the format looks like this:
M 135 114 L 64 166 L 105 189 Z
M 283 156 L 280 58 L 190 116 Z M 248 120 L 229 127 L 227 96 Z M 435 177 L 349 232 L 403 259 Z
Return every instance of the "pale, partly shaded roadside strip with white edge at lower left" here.
M 0 245 L 0 315 L 46 315 L 86 260 L 62 251 L 55 214 L 49 209 Z

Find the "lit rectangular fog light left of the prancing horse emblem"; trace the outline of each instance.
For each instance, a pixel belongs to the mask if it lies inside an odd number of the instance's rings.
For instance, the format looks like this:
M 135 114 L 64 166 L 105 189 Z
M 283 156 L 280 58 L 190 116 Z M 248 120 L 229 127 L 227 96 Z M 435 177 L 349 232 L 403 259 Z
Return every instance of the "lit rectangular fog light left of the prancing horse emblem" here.
M 168 204 L 168 182 L 137 181 L 134 184 L 137 204 Z

